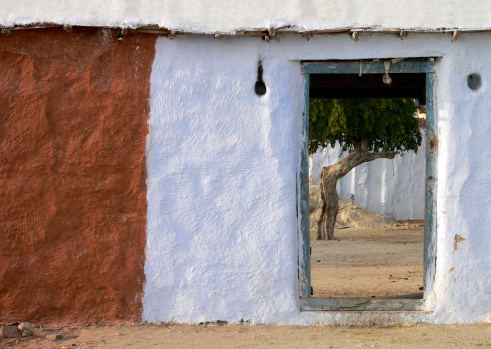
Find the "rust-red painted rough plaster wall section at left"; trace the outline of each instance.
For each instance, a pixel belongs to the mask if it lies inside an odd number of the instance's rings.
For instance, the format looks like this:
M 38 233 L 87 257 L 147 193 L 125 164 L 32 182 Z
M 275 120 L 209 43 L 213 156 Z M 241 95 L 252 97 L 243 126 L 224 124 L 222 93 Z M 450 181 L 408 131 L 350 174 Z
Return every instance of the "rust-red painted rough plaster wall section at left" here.
M 0 36 L 0 322 L 141 318 L 156 36 Z

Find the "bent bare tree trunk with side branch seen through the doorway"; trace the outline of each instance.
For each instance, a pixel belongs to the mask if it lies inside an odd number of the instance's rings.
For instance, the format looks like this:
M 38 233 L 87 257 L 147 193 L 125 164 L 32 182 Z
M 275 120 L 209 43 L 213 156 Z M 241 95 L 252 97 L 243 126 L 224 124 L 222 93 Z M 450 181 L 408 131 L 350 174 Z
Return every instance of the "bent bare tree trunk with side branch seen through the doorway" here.
M 317 221 L 317 240 L 334 240 L 334 225 L 339 209 L 339 197 L 336 191 L 338 179 L 343 178 L 356 166 L 379 158 L 393 159 L 398 152 L 369 153 L 364 142 L 355 146 L 355 150 L 331 166 L 324 167 L 321 174 L 322 211 Z

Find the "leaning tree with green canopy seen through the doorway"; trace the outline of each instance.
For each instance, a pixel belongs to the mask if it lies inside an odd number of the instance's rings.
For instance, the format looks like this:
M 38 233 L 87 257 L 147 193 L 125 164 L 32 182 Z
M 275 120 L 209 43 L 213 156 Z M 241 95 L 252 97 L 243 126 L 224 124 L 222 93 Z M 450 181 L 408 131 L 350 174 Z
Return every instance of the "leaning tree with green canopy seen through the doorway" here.
M 339 143 L 349 154 L 321 173 L 322 213 L 317 240 L 334 239 L 336 183 L 354 167 L 379 158 L 418 151 L 421 132 L 411 99 L 310 99 L 309 151 Z

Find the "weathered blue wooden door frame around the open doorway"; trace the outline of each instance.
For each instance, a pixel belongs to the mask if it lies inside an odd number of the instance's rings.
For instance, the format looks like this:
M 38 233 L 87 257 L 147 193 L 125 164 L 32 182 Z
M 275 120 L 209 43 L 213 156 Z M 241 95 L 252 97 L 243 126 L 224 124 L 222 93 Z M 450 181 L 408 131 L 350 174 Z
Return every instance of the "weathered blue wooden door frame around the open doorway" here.
M 423 311 L 425 299 L 433 289 L 436 263 L 436 138 L 435 138 L 435 73 L 433 59 L 391 62 L 389 74 L 426 74 L 426 185 L 424 238 L 424 295 L 423 299 L 388 298 L 312 298 L 310 278 L 309 225 L 309 89 L 310 74 L 383 74 L 385 66 L 379 61 L 305 62 L 301 64 L 304 79 L 305 107 L 302 115 L 302 149 L 298 176 L 299 198 L 299 282 L 301 310 L 331 311 Z

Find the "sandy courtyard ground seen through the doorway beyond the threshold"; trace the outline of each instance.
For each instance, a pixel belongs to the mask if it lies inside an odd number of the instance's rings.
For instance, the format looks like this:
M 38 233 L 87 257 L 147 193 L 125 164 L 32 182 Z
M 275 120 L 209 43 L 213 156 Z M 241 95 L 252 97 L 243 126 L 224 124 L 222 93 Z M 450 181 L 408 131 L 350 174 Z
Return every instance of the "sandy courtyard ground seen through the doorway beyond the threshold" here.
M 335 229 L 339 241 L 312 240 L 313 297 L 421 298 L 422 225 Z

